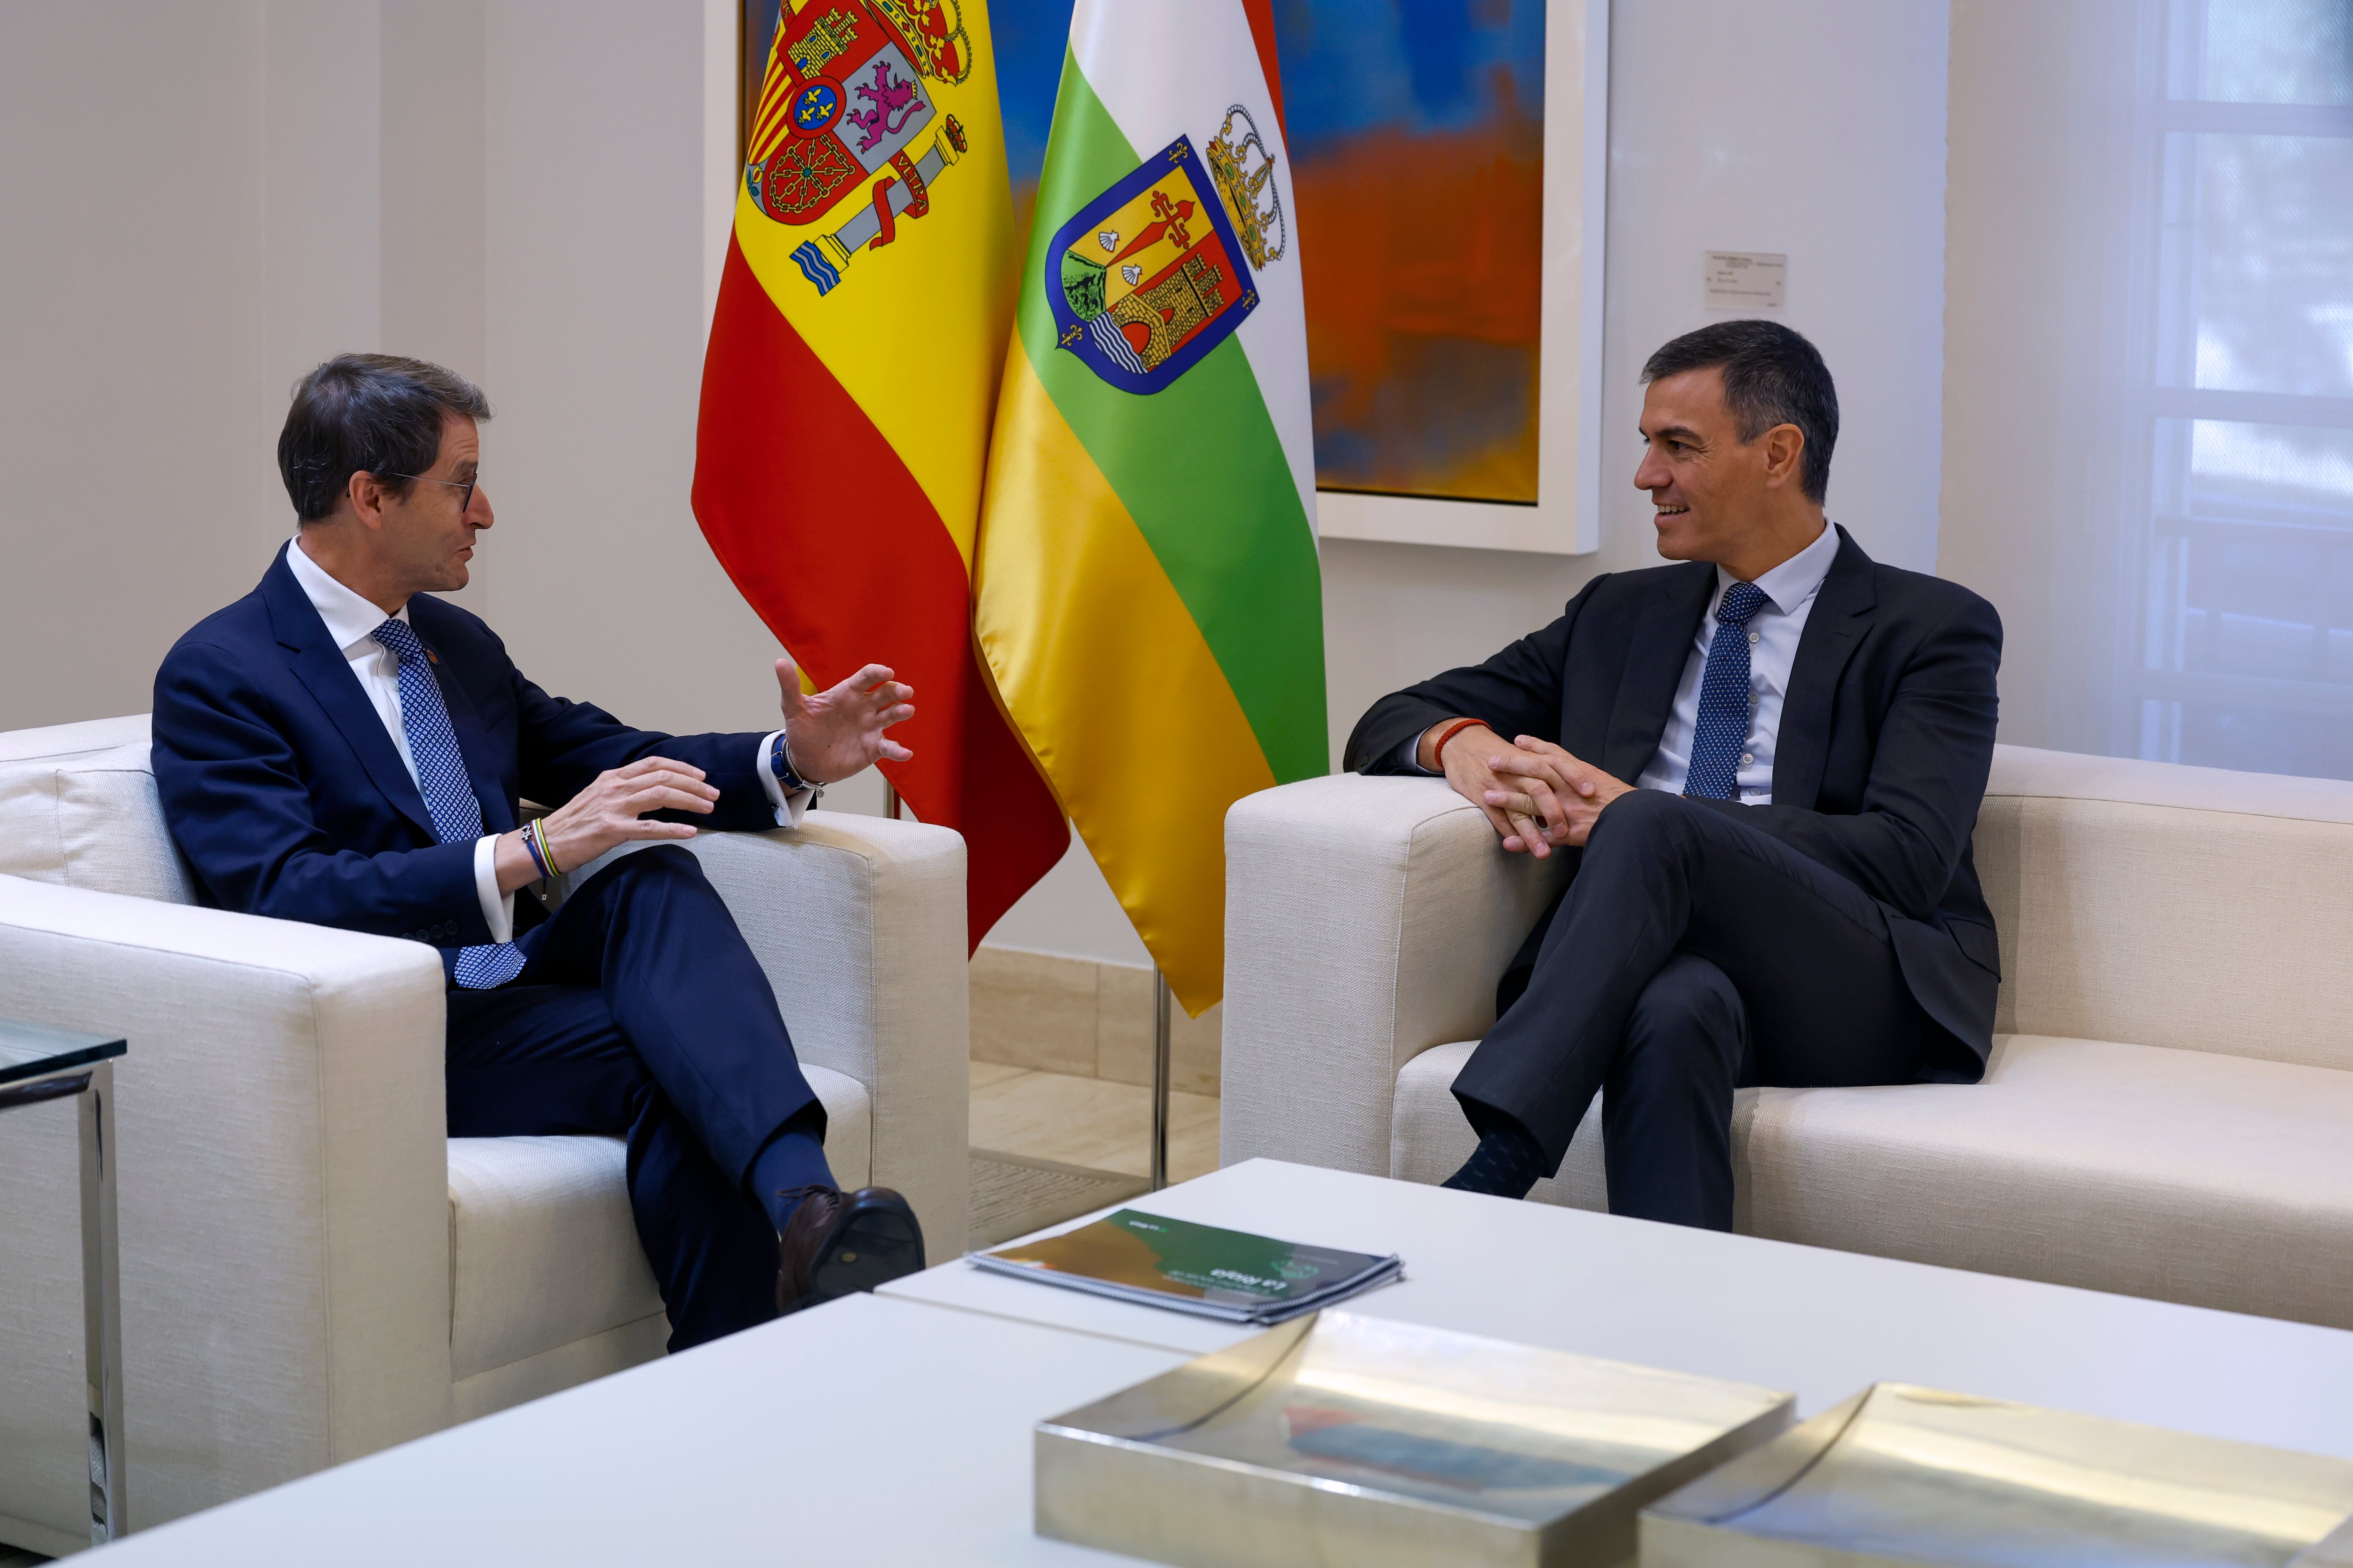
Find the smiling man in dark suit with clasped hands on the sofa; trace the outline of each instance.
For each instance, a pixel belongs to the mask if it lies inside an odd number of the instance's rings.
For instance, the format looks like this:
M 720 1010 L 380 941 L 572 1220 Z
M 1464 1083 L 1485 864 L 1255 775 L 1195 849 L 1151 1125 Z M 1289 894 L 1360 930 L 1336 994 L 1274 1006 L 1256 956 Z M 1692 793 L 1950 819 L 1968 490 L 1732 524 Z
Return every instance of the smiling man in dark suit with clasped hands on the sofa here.
M 1506 851 L 1577 856 L 1454 1079 L 1480 1145 L 1447 1185 L 1527 1197 L 1600 1091 L 1612 1213 L 1732 1229 L 1734 1088 L 1984 1077 L 2002 623 L 1824 517 L 1838 393 L 1802 336 L 1720 322 L 1642 381 L 1633 482 L 1685 564 L 1381 698 L 1348 766 L 1445 773 Z

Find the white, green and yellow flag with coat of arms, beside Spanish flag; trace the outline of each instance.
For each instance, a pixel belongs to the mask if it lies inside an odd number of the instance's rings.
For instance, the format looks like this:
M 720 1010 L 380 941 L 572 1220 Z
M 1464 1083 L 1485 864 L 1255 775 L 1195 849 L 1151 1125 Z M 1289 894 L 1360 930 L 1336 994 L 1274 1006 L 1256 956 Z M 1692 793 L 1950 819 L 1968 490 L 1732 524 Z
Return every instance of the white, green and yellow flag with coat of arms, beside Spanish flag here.
M 1268 0 L 1078 0 L 974 632 L 1186 1011 L 1224 818 L 1327 771 L 1306 310 Z

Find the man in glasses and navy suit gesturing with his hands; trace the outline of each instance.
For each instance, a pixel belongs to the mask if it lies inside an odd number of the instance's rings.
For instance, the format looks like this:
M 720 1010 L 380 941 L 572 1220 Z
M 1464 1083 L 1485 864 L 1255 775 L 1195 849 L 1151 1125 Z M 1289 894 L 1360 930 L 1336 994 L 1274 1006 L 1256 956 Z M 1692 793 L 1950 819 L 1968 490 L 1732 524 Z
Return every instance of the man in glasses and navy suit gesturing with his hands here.
M 882 665 L 769 733 L 661 736 L 534 686 L 466 585 L 492 527 L 489 404 L 419 360 L 294 388 L 301 520 L 261 585 L 155 675 L 155 785 L 205 903 L 440 947 L 452 1135 L 614 1133 L 671 1349 L 922 1267 L 885 1187 L 840 1192 L 776 997 L 694 856 L 696 823 L 800 820 L 878 757 L 913 691 Z M 520 799 L 553 806 L 522 823 Z M 551 914 L 532 893 L 647 842 Z

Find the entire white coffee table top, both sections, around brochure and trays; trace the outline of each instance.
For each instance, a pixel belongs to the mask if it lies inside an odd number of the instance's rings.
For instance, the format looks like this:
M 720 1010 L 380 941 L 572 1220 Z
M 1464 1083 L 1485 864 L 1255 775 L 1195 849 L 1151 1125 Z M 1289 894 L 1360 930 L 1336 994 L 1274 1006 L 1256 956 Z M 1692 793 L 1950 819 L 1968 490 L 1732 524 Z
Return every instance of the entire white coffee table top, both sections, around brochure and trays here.
M 2353 1458 L 2353 1333 L 1249 1161 L 1136 1199 L 1398 1251 L 1362 1312 L 1798 1392 L 1875 1378 Z M 108 1547 L 122 1563 L 1111 1563 L 1031 1425 L 1238 1331 L 953 1262 Z

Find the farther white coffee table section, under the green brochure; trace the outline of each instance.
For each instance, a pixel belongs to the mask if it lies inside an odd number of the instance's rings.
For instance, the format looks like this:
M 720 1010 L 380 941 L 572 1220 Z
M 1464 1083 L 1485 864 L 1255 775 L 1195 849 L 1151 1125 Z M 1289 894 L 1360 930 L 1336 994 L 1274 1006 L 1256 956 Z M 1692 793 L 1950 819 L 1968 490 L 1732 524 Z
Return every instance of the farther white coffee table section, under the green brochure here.
M 1405 1279 L 1351 1309 L 1760 1382 L 1793 1392 L 1800 1418 L 1901 1380 L 2353 1460 L 2353 1333 L 2341 1328 L 1271 1159 L 1125 1206 L 1400 1253 Z M 1191 1354 L 1242 1338 L 1224 1324 L 969 1267 L 927 1269 L 885 1291 Z

